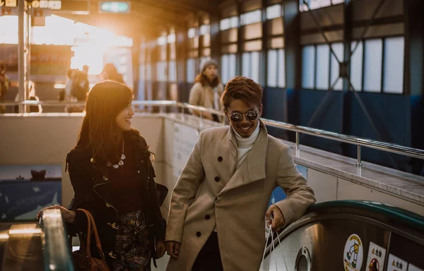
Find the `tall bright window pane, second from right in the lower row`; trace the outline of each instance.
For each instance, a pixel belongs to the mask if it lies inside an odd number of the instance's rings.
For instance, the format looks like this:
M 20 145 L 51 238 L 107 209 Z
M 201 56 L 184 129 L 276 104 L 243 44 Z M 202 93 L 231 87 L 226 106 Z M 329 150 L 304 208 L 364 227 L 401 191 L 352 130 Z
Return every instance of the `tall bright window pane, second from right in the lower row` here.
M 383 41 L 366 40 L 364 54 L 364 90 L 379 92 L 382 89 Z

